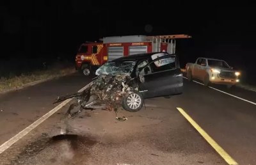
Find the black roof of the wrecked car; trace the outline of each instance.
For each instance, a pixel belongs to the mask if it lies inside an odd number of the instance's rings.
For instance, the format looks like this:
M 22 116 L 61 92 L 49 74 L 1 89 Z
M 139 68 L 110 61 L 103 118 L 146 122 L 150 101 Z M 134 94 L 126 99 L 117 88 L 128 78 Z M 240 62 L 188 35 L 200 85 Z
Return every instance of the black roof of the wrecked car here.
M 168 55 L 168 52 L 150 52 L 150 53 L 142 53 L 142 54 L 134 54 L 129 56 L 124 56 L 122 58 L 113 59 L 112 61 L 138 61 L 140 59 L 147 59 L 150 58 L 153 54 L 157 53 L 166 53 Z

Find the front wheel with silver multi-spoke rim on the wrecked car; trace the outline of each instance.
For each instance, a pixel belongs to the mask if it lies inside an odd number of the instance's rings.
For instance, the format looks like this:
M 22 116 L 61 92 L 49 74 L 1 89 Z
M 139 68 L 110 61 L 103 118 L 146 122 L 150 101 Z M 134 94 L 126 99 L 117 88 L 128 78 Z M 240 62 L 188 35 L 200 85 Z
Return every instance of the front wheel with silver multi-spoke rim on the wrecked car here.
M 126 97 L 124 97 L 122 101 L 122 107 L 125 111 L 129 111 L 131 113 L 138 112 L 142 108 L 144 103 L 144 99 L 140 92 L 134 91 L 130 93 Z

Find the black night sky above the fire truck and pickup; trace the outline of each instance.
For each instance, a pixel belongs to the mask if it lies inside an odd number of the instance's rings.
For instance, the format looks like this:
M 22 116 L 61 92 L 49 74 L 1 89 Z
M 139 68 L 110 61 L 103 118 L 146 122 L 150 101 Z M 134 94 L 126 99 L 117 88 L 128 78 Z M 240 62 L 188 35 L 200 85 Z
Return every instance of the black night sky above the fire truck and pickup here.
M 0 1 L 1 60 L 74 59 L 85 41 L 116 35 L 188 34 L 181 63 L 225 59 L 256 75 L 255 4 L 244 1 Z M 256 77 L 255 77 L 256 79 Z

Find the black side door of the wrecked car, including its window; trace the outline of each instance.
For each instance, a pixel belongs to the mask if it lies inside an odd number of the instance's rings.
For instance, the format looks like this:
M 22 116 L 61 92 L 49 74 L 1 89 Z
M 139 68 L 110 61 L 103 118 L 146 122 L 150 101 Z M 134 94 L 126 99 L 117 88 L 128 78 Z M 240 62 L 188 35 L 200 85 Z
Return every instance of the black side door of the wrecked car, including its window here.
M 182 93 L 183 79 L 176 55 L 154 59 L 141 70 L 139 79 L 140 92 L 144 98 Z

